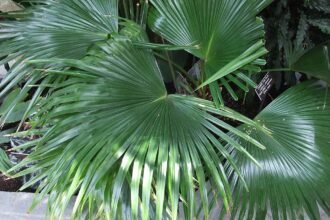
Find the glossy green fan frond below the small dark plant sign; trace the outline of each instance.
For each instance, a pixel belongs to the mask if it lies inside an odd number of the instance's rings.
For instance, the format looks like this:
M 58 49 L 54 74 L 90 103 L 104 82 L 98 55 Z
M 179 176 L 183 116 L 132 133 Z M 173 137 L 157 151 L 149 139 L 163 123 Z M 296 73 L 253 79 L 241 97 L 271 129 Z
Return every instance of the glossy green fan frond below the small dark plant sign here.
M 289 89 L 255 119 L 271 131 L 242 126 L 241 130 L 263 143 L 267 150 L 249 147 L 256 167 L 231 147 L 231 155 L 248 184 L 249 192 L 226 167 L 234 187 L 232 219 L 320 219 L 319 207 L 330 214 L 330 96 L 318 83 Z M 229 164 L 228 164 L 229 165 Z M 305 215 L 306 217 L 306 215 Z

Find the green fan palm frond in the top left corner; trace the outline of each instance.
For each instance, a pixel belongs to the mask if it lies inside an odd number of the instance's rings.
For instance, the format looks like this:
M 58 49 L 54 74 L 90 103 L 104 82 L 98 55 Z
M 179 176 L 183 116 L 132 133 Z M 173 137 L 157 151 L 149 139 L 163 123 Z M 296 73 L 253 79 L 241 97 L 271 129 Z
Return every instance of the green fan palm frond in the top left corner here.
M 48 0 L 35 6 L 34 10 L 21 12 L 17 21 L 0 23 L 0 65 L 13 61 L 11 70 L 0 83 L 0 98 L 17 84 L 25 82 L 24 88 L 13 103 L 23 101 L 31 90 L 30 85 L 41 86 L 35 93 L 30 107 L 45 89 L 45 85 L 61 81 L 59 77 L 45 77 L 42 70 L 56 68 L 54 65 L 31 68 L 27 62 L 40 58 L 82 58 L 93 43 L 105 41 L 118 31 L 117 0 L 64 1 Z M 39 74 L 34 74 L 39 72 Z M 63 78 L 63 77 L 62 77 Z M 42 82 L 40 82 L 42 81 Z M 8 117 L 9 109 L 5 116 Z M 24 120 L 27 117 L 26 112 Z

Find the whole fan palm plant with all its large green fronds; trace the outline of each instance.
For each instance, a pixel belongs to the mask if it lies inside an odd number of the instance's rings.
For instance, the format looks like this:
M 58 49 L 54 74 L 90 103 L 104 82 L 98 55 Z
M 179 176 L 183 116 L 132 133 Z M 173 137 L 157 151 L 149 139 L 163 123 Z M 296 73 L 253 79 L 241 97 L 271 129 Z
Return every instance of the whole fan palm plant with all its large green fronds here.
M 14 61 L 0 122 L 25 102 L 31 128 L 12 136 L 37 138 L 15 148 L 32 150 L 24 161 L 0 162 L 12 177 L 38 173 L 23 186 L 41 182 L 32 208 L 49 195 L 61 219 L 77 195 L 74 219 L 210 219 L 218 200 L 232 218 L 330 212 L 327 89 L 299 85 L 254 120 L 223 100 L 256 86 L 267 53 L 256 16 L 270 0 L 30 2 L 0 23 L 0 64 Z M 201 77 L 173 50 L 200 59 Z M 167 91 L 159 59 L 185 94 Z

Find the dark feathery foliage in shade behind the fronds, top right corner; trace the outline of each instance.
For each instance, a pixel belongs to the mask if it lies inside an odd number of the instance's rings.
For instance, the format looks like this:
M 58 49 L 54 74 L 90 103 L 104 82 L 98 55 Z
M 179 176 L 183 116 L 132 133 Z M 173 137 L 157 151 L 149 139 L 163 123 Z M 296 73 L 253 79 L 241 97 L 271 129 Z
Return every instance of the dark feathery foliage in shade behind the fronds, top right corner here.
M 330 35 L 311 24 L 314 19 L 329 19 L 327 11 L 329 2 L 322 0 L 276 0 L 267 7 L 262 17 L 265 21 L 266 44 L 270 51 L 267 58 L 267 69 L 288 66 L 290 43 L 302 41 L 298 49 L 308 49 L 330 39 Z M 317 7 L 318 6 L 318 7 Z M 285 90 L 295 85 L 297 77 L 294 74 L 274 72 L 276 89 Z

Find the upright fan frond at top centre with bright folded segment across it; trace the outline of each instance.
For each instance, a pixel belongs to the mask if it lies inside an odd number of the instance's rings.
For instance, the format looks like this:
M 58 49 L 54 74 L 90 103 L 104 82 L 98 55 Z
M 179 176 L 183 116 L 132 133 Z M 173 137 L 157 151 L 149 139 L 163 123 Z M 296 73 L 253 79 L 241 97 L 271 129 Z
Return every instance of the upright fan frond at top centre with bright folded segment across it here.
M 205 62 L 207 80 L 201 86 L 211 83 L 216 103 L 223 102 L 217 80 L 235 99 L 228 81 L 246 91 L 243 84 L 253 85 L 245 74 L 260 71 L 257 65 L 263 61 L 257 58 L 267 52 L 262 42 L 263 23 L 256 15 L 270 0 L 151 2 L 155 6 L 149 16 L 151 29 L 175 45 L 196 46 L 188 51 Z

